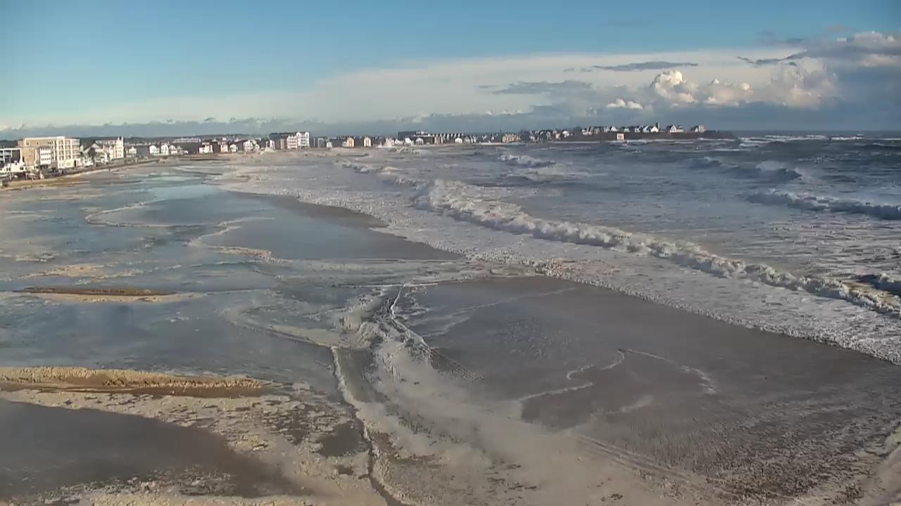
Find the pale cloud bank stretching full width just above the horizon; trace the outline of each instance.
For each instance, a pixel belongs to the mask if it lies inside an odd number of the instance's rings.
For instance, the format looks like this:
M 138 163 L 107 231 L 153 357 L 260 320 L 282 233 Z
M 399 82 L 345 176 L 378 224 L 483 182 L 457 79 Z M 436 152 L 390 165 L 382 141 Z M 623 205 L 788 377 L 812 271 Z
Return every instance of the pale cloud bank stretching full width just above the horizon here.
M 590 70 L 574 78 L 577 68 Z M 410 62 L 350 72 L 298 91 L 169 97 L 92 111 L 89 117 L 27 124 L 6 119 L 0 138 L 294 129 L 328 135 L 405 128 L 496 131 L 651 120 L 733 130 L 893 130 L 901 128 L 901 37 L 899 32 L 863 32 L 819 40 L 771 38 L 768 45 L 741 54 L 714 50 Z M 172 116 L 160 117 L 160 112 Z M 217 119 L 226 115 L 228 120 Z

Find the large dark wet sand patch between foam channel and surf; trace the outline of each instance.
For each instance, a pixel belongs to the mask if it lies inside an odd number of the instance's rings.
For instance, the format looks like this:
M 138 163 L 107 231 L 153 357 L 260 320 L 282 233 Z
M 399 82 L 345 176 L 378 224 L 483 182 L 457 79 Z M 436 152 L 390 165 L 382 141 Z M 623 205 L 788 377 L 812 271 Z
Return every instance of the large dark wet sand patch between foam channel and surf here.
M 405 303 L 430 308 L 406 323 L 432 362 L 647 474 L 777 503 L 858 501 L 901 427 L 901 368 L 848 349 L 542 277 L 424 287 Z

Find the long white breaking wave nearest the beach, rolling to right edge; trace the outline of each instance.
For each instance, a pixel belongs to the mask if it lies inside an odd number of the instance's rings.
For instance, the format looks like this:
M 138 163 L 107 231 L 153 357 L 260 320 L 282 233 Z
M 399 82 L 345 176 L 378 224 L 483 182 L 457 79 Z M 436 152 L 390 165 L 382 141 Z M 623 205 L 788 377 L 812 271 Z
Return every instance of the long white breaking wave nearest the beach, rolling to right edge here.
M 486 202 L 473 197 L 472 187 L 463 183 L 435 180 L 421 188 L 415 205 L 460 221 L 469 221 L 490 229 L 529 234 L 547 239 L 601 248 L 615 248 L 635 254 L 669 260 L 715 276 L 757 281 L 765 285 L 805 291 L 843 300 L 874 312 L 901 316 L 901 301 L 876 290 L 842 281 L 815 276 L 795 276 L 765 264 L 724 258 L 689 242 L 675 242 L 625 230 L 587 223 L 551 221 L 533 217 L 513 203 Z

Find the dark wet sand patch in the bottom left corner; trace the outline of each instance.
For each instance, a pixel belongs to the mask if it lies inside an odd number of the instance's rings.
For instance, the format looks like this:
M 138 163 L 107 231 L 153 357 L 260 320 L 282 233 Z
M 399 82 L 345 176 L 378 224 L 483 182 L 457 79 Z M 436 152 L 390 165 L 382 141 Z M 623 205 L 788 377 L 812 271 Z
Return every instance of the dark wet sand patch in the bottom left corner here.
M 205 430 L 140 416 L 0 400 L 0 500 L 89 483 L 259 497 L 302 492 Z M 32 499 L 29 499 L 29 498 Z

